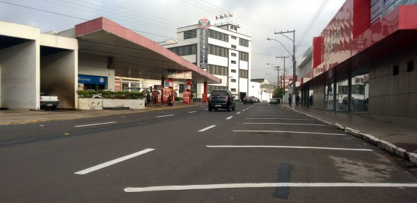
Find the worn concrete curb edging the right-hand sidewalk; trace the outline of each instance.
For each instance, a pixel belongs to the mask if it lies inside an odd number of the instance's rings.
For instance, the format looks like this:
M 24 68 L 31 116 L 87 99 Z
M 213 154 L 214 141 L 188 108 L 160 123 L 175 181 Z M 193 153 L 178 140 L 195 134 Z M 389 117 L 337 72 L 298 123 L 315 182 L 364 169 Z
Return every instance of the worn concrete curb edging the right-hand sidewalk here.
M 294 110 L 295 111 L 295 110 Z M 301 113 L 299 111 L 296 111 L 297 113 Z M 325 120 L 321 120 L 317 117 L 314 117 L 313 115 L 308 115 L 306 113 L 301 113 L 304 115 L 307 115 L 308 117 L 313 117 L 316 120 L 319 120 L 320 122 L 324 122 L 326 124 L 332 125 L 334 127 L 336 127 L 337 129 L 343 130 L 346 133 L 349 133 L 353 136 L 356 136 L 357 138 L 361 138 L 365 141 L 367 141 L 368 143 L 371 143 L 372 145 L 375 145 L 381 149 L 384 149 L 386 152 L 389 152 L 395 156 L 398 156 L 402 159 L 405 159 L 407 161 L 409 161 L 410 163 L 413 163 L 414 165 L 417 165 L 417 153 L 414 152 L 407 152 L 407 150 L 402 149 L 400 147 L 395 146 L 393 143 L 389 143 L 385 140 L 381 140 L 379 138 L 375 138 L 375 136 L 372 136 L 370 134 L 367 133 L 363 133 L 361 131 L 358 131 L 356 129 L 352 129 L 349 127 L 343 127 L 341 124 L 332 124 L 330 122 L 327 122 Z

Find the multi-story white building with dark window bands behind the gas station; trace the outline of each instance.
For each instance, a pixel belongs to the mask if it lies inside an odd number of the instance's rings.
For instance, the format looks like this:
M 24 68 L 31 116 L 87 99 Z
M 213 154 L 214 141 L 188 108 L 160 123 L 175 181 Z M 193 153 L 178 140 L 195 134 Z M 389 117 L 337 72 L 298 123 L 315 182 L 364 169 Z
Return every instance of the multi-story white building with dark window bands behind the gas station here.
M 251 37 L 238 33 L 239 25 L 233 22 L 214 26 L 207 19 L 200 22 L 205 22 L 204 28 L 200 23 L 179 28 L 178 40 L 160 44 L 221 79 L 221 84 L 207 84 L 207 94 L 228 88 L 239 100 L 250 96 Z M 180 94 L 182 86 L 180 83 Z M 191 86 L 197 100 L 203 98 L 204 87 L 203 84 Z

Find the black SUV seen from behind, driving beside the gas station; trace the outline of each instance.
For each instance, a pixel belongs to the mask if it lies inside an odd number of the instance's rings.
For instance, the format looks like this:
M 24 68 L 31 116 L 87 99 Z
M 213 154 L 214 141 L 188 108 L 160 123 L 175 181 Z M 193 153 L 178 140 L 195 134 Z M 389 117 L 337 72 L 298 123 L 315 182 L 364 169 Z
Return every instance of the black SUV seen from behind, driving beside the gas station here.
M 229 90 L 213 90 L 208 99 L 209 111 L 217 111 L 219 108 L 226 108 L 230 111 L 230 108 L 235 111 L 235 96 L 232 96 L 232 92 Z

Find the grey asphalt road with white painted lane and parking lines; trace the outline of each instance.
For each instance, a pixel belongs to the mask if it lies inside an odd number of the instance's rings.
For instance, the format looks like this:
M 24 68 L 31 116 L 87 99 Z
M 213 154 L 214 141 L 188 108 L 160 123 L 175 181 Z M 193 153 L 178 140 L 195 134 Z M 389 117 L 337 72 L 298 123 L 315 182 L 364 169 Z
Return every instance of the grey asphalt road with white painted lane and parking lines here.
M 288 108 L 0 127 L 0 202 L 416 202 L 417 170 Z

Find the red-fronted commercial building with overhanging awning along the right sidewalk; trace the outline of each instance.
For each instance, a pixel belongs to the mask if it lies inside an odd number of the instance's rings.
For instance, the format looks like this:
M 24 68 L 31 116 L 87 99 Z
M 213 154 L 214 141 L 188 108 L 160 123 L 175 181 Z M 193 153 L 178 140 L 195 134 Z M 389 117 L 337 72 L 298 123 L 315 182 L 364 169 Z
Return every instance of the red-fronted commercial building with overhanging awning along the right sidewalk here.
M 416 124 L 416 3 L 347 0 L 313 38 L 303 105 Z

